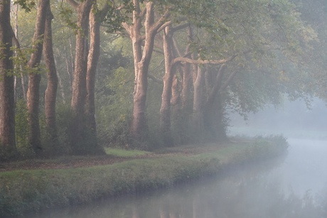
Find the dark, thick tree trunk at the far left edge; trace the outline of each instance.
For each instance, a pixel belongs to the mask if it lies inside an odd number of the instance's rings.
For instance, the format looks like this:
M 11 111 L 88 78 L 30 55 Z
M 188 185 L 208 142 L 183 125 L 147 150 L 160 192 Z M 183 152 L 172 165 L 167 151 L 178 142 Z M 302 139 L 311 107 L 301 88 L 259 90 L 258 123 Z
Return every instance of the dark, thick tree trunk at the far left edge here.
M 0 0 L 0 160 L 16 155 L 14 77 L 8 75 L 14 68 L 10 5 L 9 0 Z

